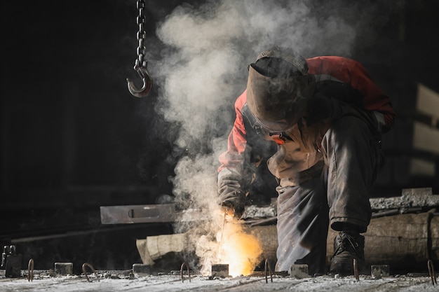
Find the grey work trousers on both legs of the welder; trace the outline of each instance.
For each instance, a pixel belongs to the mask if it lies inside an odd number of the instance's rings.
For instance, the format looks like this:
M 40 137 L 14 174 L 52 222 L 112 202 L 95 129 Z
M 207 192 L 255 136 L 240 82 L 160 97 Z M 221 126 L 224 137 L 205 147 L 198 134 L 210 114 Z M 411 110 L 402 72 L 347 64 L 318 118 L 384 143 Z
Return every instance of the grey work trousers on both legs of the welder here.
M 381 168 L 379 137 L 364 120 L 344 116 L 322 140 L 325 164 L 319 176 L 299 186 L 278 186 L 277 271 L 308 264 L 310 274 L 325 274 L 328 225 L 344 223 L 367 230 L 369 192 Z

